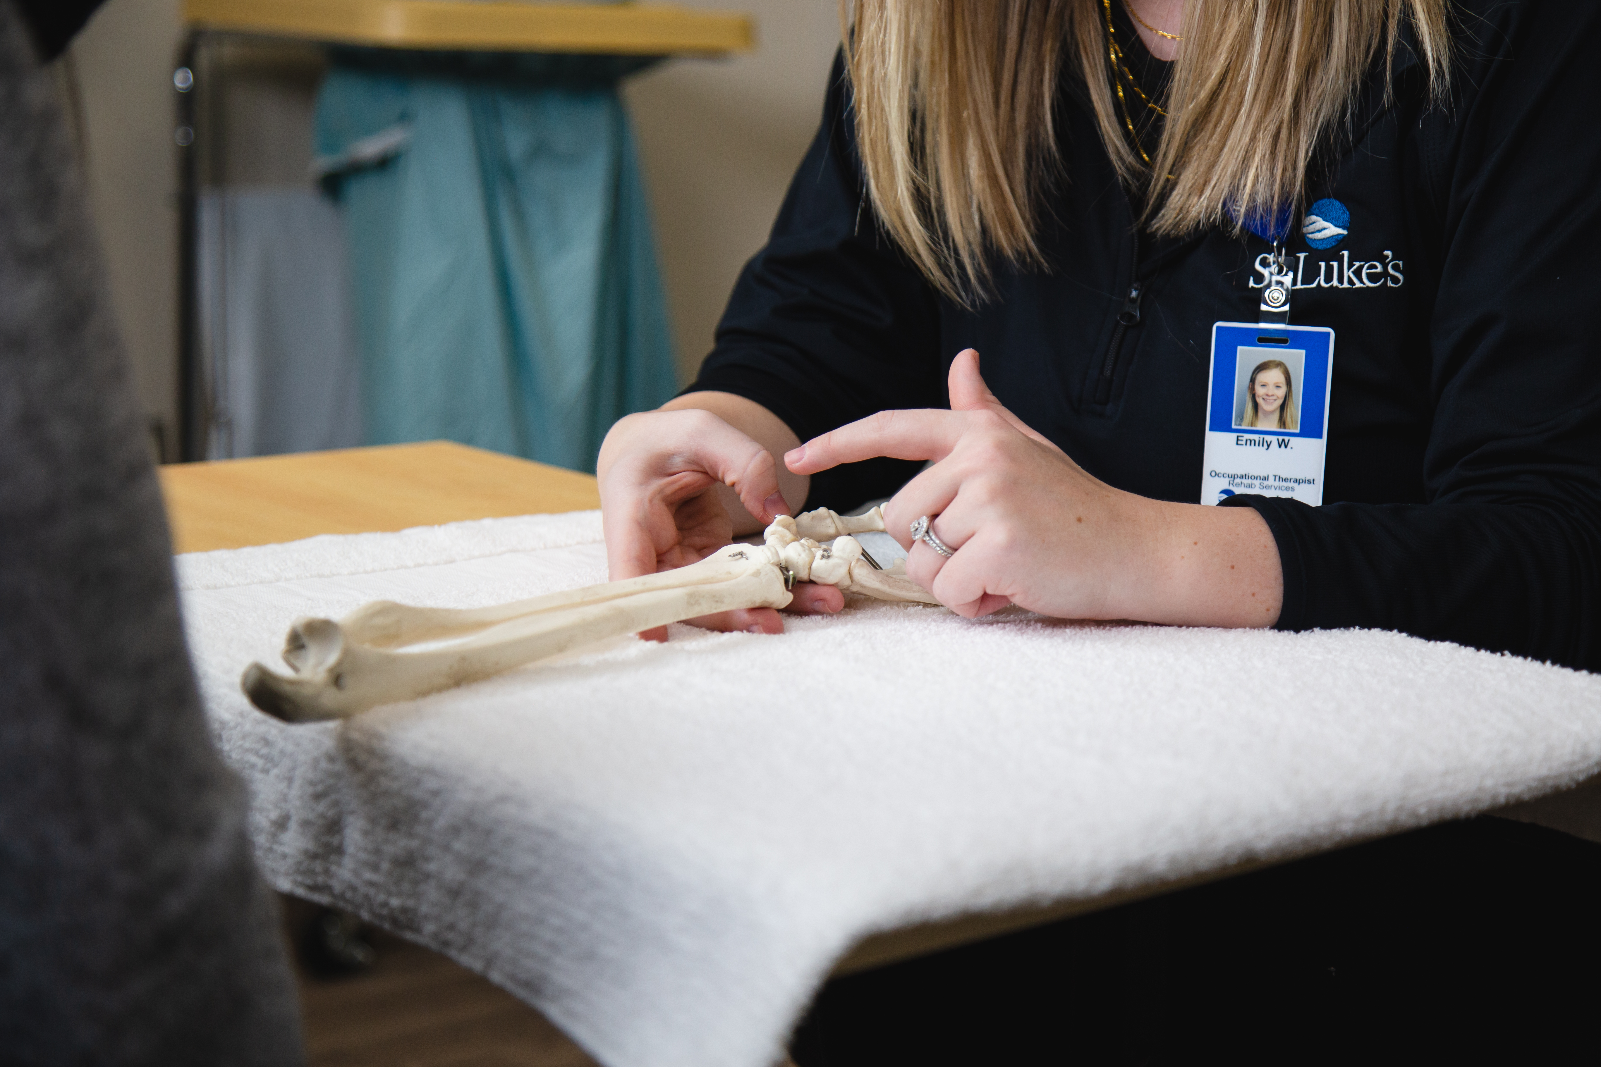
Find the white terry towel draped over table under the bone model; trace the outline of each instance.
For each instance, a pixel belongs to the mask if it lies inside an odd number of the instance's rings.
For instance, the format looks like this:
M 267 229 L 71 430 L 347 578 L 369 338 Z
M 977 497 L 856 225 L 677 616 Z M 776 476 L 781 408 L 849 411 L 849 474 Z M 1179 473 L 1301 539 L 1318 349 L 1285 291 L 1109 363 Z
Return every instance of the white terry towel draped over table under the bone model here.
M 538 1005 L 610 1067 L 764 1067 L 873 931 L 1484 811 L 1601 769 L 1601 677 L 1382 632 L 857 605 L 674 627 L 287 726 L 239 675 L 301 614 L 604 581 L 596 514 L 178 560 L 280 889 Z

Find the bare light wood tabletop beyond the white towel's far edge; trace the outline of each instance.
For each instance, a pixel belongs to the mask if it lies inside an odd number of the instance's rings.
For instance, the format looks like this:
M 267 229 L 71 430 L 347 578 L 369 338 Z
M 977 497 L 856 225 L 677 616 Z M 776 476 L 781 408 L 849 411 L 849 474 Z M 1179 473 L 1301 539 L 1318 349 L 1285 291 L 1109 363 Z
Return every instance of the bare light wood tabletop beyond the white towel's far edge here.
M 592 475 L 450 442 L 160 467 L 175 552 L 600 507 Z

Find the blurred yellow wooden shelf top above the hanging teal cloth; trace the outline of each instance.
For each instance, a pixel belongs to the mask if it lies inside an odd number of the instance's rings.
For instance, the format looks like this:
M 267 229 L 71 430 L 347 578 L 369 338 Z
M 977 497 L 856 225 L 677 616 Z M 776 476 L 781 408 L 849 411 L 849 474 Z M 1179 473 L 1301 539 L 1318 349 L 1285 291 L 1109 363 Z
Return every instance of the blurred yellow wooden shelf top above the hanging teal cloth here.
M 373 48 L 719 54 L 748 51 L 751 18 L 636 3 L 184 0 L 195 29 Z

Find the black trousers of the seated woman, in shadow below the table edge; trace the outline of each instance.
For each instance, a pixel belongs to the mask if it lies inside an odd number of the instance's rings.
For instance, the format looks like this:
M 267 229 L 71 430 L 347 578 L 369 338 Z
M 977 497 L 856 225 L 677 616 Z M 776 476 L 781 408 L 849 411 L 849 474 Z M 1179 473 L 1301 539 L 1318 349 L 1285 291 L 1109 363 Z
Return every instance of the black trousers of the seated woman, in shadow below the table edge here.
M 1483 817 L 828 982 L 799 1067 L 1566 1062 L 1601 846 Z

